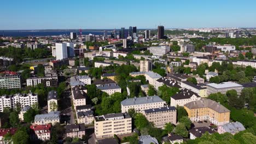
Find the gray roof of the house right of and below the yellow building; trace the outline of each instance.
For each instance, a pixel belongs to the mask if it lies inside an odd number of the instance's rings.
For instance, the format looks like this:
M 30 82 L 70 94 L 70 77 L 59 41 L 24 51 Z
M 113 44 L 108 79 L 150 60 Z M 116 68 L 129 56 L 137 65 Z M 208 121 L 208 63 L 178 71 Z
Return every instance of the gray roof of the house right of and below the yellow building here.
M 238 133 L 239 131 L 245 130 L 245 127 L 240 122 L 226 123 L 220 125 L 228 133 Z

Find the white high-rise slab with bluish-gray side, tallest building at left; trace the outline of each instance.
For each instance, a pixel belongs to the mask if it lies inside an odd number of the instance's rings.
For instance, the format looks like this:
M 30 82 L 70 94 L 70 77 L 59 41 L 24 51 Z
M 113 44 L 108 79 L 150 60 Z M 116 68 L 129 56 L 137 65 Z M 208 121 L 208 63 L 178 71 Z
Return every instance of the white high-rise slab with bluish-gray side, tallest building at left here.
M 56 59 L 57 60 L 68 58 L 66 43 L 56 43 L 55 48 L 56 48 Z

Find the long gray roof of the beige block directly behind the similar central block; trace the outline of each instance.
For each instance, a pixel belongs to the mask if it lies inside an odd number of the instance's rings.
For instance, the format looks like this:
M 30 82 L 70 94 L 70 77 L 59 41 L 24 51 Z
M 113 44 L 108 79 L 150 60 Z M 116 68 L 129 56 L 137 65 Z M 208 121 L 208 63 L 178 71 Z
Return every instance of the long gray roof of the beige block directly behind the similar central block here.
M 128 105 L 139 105 L 139 104 L 148 104 L 148 103 L 159 103 L 164 102 L 158 96 L 150 96 L 150 97 L 139 97 L 139 98 L 130 98 L 121 101 L 121 105 L 128 106 Z

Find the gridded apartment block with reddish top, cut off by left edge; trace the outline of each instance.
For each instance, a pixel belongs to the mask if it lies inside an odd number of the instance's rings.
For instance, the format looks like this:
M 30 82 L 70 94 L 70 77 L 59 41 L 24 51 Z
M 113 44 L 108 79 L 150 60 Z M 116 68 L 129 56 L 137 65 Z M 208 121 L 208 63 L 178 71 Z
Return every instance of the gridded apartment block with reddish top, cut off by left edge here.
M 20 75 L 4 74 L 0 75 L 0 88 L 21 88 Z

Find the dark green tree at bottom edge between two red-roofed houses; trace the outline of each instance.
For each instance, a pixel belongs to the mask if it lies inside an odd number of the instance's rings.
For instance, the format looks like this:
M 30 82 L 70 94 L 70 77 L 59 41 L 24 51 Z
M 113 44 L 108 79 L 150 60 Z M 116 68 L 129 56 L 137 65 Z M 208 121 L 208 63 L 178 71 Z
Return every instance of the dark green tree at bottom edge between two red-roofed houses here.
M 16 133 L 11 137 L 14 144 L 26 144 L 28 143 L 29 135 L 22 130 L 16 131 Z

